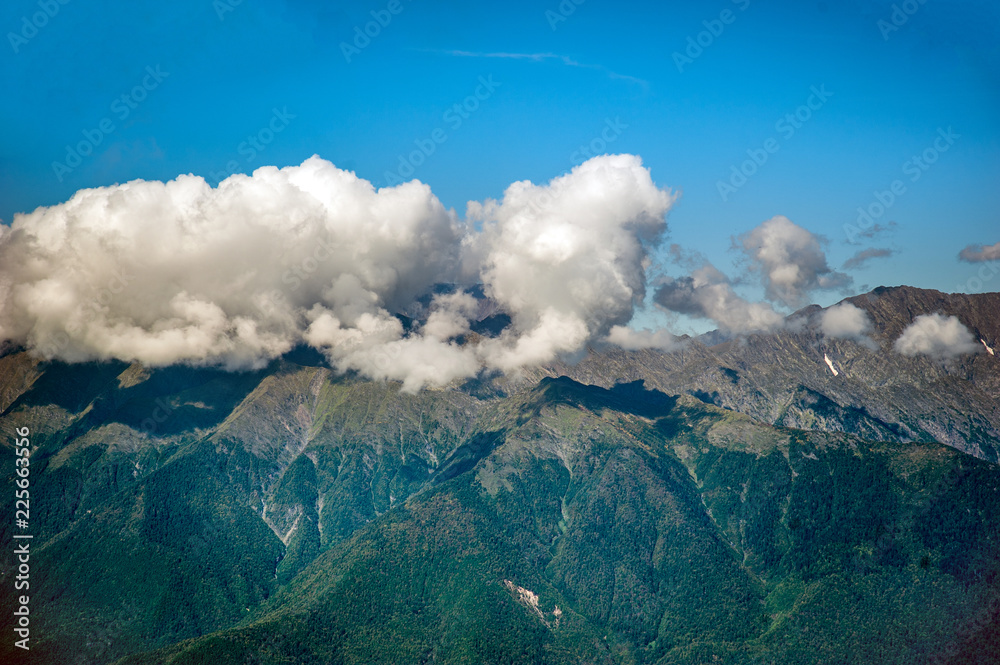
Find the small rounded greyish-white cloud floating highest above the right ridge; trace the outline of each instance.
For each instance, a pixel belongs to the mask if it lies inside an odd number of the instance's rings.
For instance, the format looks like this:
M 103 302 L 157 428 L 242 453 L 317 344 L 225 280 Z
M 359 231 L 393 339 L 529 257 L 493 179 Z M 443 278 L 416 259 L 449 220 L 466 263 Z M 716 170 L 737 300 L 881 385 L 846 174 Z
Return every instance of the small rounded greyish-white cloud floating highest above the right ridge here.
M 811 291 L 851 284 L 848 275 L 827 265 L 820 239 L 787 217 L 773 217 L 738 241 L 751 268 L 760 273 L 767 298 L 774 302 L 799 307 Z

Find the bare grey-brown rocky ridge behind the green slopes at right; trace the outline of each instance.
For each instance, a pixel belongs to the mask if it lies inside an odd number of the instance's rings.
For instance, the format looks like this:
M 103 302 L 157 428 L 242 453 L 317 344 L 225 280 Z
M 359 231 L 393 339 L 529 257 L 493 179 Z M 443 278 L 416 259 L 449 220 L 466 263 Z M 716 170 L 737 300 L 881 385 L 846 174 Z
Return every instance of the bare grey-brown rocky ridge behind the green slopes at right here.
M 688 394 L 754 419 L 876 441 L 938 441 L 1000 462 L 1000 356 L 966 355 L 950 363 L 907 357 L 893 342 L 922 314 L 955 316 L 991 348 L 1000 349 L 1000 293 L 945 294 L 912 287 L 878 288 L 846 302 L 864 310 L 872 348 L 824 337 L 823 309 L 789 317 L 780 332 L 708 346 L 717 335 L 673 353 L 608 350 L 575 366 L 531 372 L 571 376 L 610 387 L 644 380 L 668 394 Z M 826 364 L 830 359 L 837 375 Z

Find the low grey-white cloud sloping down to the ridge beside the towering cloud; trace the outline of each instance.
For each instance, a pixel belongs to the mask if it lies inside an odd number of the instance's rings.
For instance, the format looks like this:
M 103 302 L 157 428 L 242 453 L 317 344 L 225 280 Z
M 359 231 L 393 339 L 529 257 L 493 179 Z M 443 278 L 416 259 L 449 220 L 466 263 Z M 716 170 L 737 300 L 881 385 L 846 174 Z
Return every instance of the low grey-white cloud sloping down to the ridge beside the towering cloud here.
M 741 298 L 729 278 L 707 261 L 690 276 L 665 279 L 653 300 L 672 312 L 711 319 L 729 333 L 766 332 L 784 324 L 784 317 L 767 303 Z

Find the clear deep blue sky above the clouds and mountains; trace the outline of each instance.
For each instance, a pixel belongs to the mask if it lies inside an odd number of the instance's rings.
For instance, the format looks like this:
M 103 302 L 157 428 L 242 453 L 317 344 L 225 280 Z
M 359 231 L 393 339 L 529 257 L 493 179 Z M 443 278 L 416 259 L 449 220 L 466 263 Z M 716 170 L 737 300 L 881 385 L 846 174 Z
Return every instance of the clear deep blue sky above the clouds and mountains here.
M 0 9 L 0 218 L 81 188 L 215 180 L 313 154 L 383 185 L 419 145 L 434 150 L 410 160 L 411 177 L 464 214 L 593 146 L 641 155 L 680 190 L 669 242 L 733 276 L 732 237 L 785 215 L 827 239 L 835 269 L 892 250 L 850 271 L 855 292 L 998 290 L 958 253 L 1000 241 L 1000 10 L 912 0 L 897 26 L 892 4 L 12 0 Z M 372 12 L 387 24 L 355 42 Z M 808 119 L 779 124 L 797 111 Z M 76 164 L 67 148 L 81 141 L 96 145 Z M 934 163 L 914 170 L 925 151 Z M 849 243 L 845 224 L 896 180 L 888 229 Z

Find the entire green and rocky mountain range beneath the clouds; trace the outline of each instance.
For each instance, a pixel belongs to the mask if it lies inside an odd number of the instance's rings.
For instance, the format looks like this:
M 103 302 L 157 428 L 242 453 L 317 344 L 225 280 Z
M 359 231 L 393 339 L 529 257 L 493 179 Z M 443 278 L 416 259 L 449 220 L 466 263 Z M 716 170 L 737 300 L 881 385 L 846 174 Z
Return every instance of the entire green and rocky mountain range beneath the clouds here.
M 32 641 L 0 659 L 1000 662 L 996 360 L 891 350 L 932 311 L 1000 346 L 997 298 L 851 299 L 876 348 L 811 309 L 415 395 L 306 351 L 226 373 L 7 349 Z

